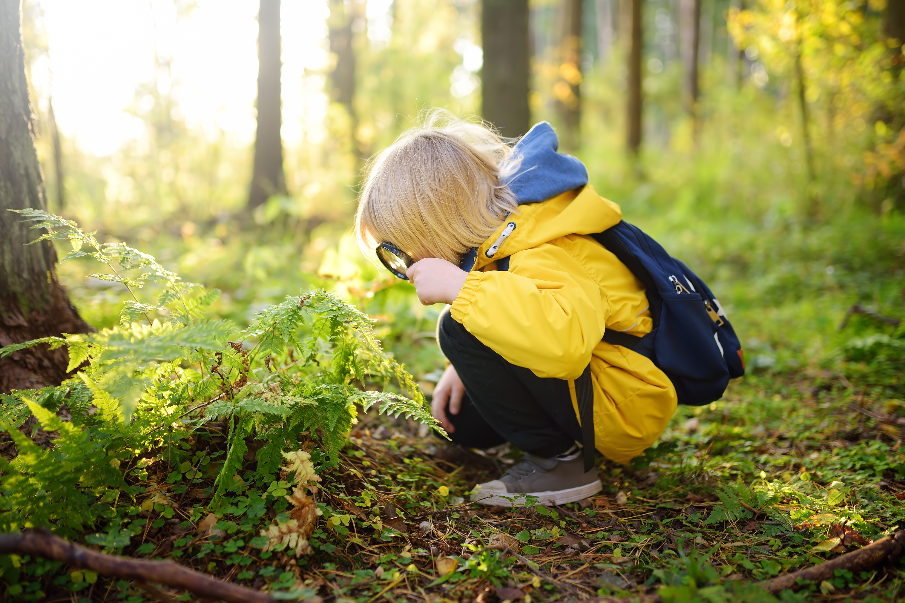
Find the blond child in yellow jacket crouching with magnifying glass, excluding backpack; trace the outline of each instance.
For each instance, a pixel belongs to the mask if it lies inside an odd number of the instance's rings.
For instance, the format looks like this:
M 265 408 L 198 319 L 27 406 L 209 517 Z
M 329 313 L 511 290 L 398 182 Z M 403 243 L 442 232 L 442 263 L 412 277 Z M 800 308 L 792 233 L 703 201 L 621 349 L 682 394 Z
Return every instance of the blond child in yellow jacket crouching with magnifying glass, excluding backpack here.
M 575 379 L 590 363 L 595 445 L 628 463 L 676 407 L 650 359 L 602 340 L 642 336 L 652 319 L 642 282 L 590 234 L 617 224 L 616 204 L 587 185 L 538 123 L 510 148 L 490 129 L 437 111 L 373 161 L 357 212 L 362 249 L 413 282 L 449 366 L 433 416 L 452 441 L 511 442 L 526 454 L 474 500 L 509 506 L 532 495 L 572 503 L 602 488 L 585 473 Z

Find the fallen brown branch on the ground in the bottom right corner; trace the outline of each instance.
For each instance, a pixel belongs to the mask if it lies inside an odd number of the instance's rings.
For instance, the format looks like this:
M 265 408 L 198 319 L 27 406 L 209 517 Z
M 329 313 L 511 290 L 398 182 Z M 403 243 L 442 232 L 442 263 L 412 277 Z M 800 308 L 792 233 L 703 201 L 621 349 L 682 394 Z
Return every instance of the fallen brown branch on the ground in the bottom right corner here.
M 778 578 L 758 582 L 767 592 L 776 594 L 780 590 L 799 588 L 798 579 L 809 582 L 821 582 L 834 577 L 835 570 L 856 571 L 870 570 L 885 560 L 897 560 L 905 551 L 905 531 L 899 531 L 894 535 L 881 538 L 865 547 L 845 553 L 834 559 L 785 574 Z M 633 597 L 600 597 L 586 601 L 585 603 L 661 603 L 660 595 L 635 595 Z

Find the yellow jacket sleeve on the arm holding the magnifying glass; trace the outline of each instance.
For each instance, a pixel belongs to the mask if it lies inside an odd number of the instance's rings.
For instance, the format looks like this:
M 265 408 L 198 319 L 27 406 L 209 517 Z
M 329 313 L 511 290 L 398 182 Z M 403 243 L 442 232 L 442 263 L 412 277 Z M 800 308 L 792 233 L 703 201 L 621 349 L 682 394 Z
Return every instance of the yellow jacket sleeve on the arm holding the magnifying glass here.
M 554 244 L 511 256 L 509 272 L 469 273 L 452 318 L 538 377 L 578 378 L 604 336 L 605 292 Z

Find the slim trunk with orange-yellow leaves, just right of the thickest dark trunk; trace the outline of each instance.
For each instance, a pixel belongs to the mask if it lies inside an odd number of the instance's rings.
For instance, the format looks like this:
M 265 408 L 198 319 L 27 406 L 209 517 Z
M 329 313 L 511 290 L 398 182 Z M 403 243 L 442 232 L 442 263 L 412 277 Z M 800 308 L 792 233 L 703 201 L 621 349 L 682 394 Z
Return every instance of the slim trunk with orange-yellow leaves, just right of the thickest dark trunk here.
M 559 5 L 559 78 L 553 91 L 563 122 L 563 148 L 574 150 L 581 135 L 581 8 L 582 0 L 562 0 Z

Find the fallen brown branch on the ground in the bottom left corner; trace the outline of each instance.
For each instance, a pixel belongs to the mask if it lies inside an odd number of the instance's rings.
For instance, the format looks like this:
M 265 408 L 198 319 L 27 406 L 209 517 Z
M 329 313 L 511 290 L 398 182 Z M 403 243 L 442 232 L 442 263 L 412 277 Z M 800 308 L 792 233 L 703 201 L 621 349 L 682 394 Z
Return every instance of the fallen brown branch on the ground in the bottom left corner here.
M 199 597 L 220 599 L 227 603 L 271 603 L 274 600 L 260 590 L 224 582 L 184 568 L 172 561 L 148 561 L 105 555 L 63 540 L 46 529 L 0 534 L 0 553 L 33 555 L 63 561 L 71 568 L 95 571 L 102 576 L 135 580 L 136 586 L 143 589 L 147 588 L 145 583 L 151 582 L 186 589 Z M 163 595 L 160 591 L 157 593 Z

